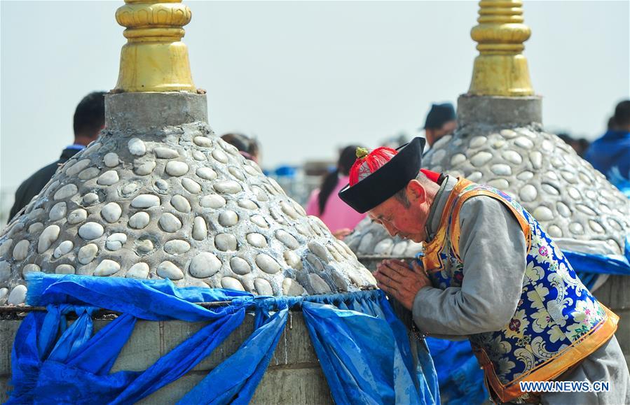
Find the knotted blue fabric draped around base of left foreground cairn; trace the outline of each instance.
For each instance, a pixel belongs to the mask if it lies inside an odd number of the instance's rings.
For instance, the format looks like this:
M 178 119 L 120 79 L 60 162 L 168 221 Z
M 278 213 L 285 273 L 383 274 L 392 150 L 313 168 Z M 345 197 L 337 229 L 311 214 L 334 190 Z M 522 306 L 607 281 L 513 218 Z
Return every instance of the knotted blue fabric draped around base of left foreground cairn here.
M 412 353 L 402 324 L 380 290 L 313 297 L 254 297 L 170 280 L 132 280 L 32 273 L 30 313 L 15 338 L 8 404 L 130 404 L 184 376 L 255 313 L 254 332 L 210 371 L 180 404 L 246 404 L 252 399 L 285 329 L 290 308 L 302 308 L 331 395 L 338 404 L 438 404 L 437 376 L 427 349 Z M 224 301 L 203 308 L 196 302 Z M 93 334 L 97 308 L 123 315 Z M 66 315 L 78 318 L 69 327 Z M 207 326 L 144 371 L 111 373 L 142 320 L 207 321 Z M 59 336 L 59 337 L 57 337 Z

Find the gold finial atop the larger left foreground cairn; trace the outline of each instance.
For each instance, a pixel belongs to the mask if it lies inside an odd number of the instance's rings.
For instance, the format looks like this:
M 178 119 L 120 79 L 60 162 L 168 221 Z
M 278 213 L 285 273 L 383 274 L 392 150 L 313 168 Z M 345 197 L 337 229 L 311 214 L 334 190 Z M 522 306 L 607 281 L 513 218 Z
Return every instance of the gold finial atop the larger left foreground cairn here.
M 182 0 L 125 0 L 116 21 L 126 27 L 118 92 L 196 92 L 181 39 L 191 10 Z

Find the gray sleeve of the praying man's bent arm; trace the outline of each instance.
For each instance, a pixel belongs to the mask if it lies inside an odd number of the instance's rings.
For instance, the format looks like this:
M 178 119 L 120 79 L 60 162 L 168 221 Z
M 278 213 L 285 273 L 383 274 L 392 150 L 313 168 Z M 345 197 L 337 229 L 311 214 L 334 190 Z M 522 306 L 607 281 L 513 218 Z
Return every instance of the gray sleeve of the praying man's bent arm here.
M 509 208 L 487 196 L 460 211 L 461 287 L 424 287 L 413 321 L 428 334 L 469 335 L 501 329 L 516 311 L 526 267 L 526 241 Z

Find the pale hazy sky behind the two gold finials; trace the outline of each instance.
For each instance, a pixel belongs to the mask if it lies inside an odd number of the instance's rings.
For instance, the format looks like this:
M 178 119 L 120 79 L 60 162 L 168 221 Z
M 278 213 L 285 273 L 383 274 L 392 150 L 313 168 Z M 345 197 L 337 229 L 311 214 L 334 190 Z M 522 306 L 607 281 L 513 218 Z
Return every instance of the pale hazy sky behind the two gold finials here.
M 334 159 L 418 134 L 432 101 L 467 91 L 476 1 L 186 1 L 193 80 L 217 134 L 258 136 L 263 166 Z M 0 187 L 72 141 L 72 115 L 110 90 L 123 1 L 1 1 Z M 628 1 L 525 1 L 545 125 L 596 138 L 630 94 Z

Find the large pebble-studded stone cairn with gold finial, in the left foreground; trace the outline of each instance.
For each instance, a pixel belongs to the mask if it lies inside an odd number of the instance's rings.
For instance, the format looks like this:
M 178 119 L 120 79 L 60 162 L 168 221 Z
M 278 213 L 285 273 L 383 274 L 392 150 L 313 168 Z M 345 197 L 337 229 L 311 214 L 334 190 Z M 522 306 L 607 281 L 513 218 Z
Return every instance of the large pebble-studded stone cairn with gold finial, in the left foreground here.
M 345 243 L 207 125 L 179 41 L 189 8 L 128 3 L 106 127 L 1 233 L 0 305 L 25 301 L 32 271 L 264 295 L 374 288 Z

